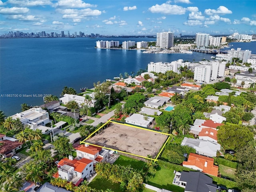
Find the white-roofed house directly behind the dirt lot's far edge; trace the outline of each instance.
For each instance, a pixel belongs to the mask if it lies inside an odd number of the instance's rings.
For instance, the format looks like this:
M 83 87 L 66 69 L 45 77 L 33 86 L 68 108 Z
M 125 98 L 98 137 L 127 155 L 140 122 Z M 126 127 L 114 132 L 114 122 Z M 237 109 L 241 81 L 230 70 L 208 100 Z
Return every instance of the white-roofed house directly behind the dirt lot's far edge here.
M 127 117 L 125 119 L 125 122 L 147 128 L 153 120 L 153 117 L 147 116 L 147 119 L 145 120 L 142 114 L 134 113 L 130 117 Z

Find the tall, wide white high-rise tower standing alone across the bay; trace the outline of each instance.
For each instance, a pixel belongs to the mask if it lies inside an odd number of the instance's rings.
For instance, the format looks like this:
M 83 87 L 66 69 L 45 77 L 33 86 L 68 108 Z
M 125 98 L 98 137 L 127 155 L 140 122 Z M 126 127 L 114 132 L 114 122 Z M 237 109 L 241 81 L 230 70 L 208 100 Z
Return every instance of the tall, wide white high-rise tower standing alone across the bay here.
M 163 32 L 156 34 L 156 46 L 160 48 L 170 48 L 174 44 L 174 33 Z

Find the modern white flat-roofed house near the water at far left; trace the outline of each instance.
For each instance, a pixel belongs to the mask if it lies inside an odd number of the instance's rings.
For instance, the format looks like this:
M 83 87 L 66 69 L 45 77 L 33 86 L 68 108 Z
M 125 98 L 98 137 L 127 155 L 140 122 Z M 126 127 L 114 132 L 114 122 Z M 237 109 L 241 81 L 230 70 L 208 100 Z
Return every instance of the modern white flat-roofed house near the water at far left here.
M 50 122 L 49 114 L 41 108 L 31 108 L 11 116 L 13 119 L 19 118 L 22 124 L 30 126 L 31 129 L 39 129 Z

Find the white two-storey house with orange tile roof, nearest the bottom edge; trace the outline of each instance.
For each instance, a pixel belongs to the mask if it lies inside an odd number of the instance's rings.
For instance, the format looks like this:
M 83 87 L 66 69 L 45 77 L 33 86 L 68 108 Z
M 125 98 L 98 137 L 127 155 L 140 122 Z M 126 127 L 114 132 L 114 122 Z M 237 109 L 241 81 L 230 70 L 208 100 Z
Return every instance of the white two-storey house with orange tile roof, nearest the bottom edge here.
M 78 186 L 84 178 L 90 178 L 93 173 L 93 161 L 82 158 L 73 159 L 72 156 L 60 160 L 58 163 L 58 173 L 54 174 L 55 178 L 62 178 Z

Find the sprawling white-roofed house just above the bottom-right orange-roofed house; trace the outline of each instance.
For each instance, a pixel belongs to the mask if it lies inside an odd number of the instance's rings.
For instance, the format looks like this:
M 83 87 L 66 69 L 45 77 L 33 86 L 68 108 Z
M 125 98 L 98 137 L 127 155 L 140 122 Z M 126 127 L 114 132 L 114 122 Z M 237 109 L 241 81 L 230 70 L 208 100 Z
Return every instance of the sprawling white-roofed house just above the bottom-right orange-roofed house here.
M 197 154 L 216 157 L 217 151 L 220 150 L 220 144 L 202 139 L 192 139 L 184 137 L 181 143 L 182 146 L 187 145 L 196 150 Z

